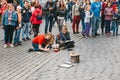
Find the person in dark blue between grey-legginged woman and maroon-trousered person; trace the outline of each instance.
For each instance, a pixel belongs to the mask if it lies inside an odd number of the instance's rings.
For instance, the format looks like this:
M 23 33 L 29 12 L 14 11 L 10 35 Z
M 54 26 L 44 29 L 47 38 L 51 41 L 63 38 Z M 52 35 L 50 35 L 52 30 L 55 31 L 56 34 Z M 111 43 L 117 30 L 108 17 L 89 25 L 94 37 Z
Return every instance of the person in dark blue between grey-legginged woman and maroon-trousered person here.
M 72 8 L 72 5 L 70 4 L 70 0 L 67 0 L 65 22 L 67 22 L 68 19 L 70 19 L 70 21 L 72 23 L 71 8 Z

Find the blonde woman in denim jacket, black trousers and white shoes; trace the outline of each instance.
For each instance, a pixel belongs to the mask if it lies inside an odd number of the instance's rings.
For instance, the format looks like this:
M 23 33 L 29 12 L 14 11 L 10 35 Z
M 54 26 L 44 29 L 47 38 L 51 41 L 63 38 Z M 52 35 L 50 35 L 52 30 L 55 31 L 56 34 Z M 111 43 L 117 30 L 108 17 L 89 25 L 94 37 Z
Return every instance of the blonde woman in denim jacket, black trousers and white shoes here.
M 5 44 L 4 48 L 10 44 L 10 47 L 14 47 L 12 44 L 13 32 L 16 27 L 17 13 L 14 11 L 14 6 L 9 4 L 8 10 L 6 10 L 2 16 L 2 25 L 5 30 Z

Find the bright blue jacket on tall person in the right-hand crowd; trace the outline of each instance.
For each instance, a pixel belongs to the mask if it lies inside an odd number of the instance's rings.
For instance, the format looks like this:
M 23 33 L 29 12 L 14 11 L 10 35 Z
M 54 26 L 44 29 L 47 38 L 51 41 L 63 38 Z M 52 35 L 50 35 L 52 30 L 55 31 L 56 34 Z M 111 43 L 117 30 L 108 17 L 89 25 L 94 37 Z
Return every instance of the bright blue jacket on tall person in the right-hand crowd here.
M 91 11 L 94 13 L 95 17 L 100 17 L 101 8 L 102 7 L 100 2 L 93 2 L 91 4 Z

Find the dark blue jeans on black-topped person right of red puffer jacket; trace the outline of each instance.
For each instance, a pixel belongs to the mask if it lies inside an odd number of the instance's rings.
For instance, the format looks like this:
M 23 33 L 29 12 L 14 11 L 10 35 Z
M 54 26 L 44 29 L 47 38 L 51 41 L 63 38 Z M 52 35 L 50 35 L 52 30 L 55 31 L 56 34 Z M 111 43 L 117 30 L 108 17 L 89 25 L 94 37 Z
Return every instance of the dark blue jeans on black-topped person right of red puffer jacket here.
M 50 26 L 49 26 L 50 23 Z M 53 26 L 53 15 L 46 15 L 45 17 L 45 34 L 47 33 L 49 26 L 49 32 L 52 32 L 52 26 Z

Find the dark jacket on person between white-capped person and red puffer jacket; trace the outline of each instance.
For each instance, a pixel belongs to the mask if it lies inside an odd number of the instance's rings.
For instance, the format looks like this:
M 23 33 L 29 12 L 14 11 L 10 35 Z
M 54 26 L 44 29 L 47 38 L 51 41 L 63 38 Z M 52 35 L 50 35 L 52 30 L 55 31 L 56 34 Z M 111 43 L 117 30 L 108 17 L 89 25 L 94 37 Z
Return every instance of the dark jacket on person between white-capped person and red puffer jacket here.
M 32 15 L 31 9 L 26 9 L 25 7 L 22 10 L 22 21 L 23 22 L 30 22 L 30 17 Z

